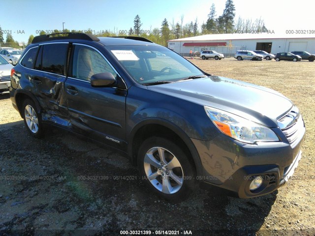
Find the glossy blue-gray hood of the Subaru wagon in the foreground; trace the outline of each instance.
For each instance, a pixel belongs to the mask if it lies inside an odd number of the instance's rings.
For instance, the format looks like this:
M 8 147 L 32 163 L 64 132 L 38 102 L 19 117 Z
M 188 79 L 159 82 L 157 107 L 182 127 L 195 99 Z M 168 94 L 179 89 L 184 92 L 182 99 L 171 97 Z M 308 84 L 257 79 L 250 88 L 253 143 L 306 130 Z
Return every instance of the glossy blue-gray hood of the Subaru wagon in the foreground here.
M 219 76 L 148 86 L 148 89 L 221 109 L 269 127 L 277 127 L 277 120 L 293 106 L 275 90 Z

